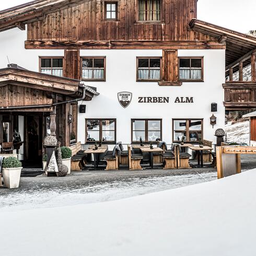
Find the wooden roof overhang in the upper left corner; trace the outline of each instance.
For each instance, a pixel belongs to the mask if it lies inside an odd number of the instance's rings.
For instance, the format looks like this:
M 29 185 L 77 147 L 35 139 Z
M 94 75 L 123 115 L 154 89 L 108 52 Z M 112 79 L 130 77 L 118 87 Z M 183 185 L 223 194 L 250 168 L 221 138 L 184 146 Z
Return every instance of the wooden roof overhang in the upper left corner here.
M 91 0 L 35 0 L 0 11 L 0 32 L 43 19 L 46 14 Z

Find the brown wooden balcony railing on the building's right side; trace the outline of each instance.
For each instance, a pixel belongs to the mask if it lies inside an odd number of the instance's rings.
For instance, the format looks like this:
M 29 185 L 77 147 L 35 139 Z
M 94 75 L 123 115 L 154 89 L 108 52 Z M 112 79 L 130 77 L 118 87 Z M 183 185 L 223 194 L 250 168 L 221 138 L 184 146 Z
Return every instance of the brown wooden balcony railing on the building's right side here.
M 256 108 L 256 82 L 227 82 L 223 88 L 227 110 Z

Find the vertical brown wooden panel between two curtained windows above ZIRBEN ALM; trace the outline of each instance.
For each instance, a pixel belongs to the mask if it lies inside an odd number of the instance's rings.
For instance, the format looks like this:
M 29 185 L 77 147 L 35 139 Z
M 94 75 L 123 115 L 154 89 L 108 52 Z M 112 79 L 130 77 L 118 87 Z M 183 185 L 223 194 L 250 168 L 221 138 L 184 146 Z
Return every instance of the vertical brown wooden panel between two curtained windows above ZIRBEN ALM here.
M 178 50 L 162 51 L 162 86 L 181 86 L 178 82 Z

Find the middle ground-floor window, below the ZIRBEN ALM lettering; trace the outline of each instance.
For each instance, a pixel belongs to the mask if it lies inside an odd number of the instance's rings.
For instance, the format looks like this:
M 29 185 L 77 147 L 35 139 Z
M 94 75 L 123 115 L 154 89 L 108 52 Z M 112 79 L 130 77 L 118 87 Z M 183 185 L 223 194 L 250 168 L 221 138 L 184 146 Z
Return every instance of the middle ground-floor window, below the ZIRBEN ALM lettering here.
M 132 142 L 156 142 L 162 137 L 161 119 L 132 119 Z

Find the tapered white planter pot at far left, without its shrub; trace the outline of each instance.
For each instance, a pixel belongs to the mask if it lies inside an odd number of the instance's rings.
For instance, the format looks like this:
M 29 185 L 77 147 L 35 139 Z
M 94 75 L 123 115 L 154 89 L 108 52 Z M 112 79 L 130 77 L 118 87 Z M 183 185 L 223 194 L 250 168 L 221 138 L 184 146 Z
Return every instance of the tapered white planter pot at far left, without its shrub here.
M 3 168 L 4 185 L 7 189 L 19 187 L 20 173 L 22 167 L 19 168 Z

